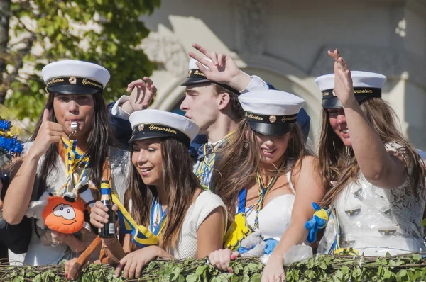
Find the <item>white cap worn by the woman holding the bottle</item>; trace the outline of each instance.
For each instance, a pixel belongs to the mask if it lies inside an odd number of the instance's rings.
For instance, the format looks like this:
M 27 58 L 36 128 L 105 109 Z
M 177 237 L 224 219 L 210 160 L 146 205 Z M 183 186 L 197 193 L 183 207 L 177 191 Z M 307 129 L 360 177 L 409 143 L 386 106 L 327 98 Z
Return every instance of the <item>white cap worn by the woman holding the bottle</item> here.
M 129 143 L 151 138 L 175 137 L 189 146 L 200 130 L 189 118 L 160 110 L 135 111 L 130 115 L 129 121 L 133 129 Z

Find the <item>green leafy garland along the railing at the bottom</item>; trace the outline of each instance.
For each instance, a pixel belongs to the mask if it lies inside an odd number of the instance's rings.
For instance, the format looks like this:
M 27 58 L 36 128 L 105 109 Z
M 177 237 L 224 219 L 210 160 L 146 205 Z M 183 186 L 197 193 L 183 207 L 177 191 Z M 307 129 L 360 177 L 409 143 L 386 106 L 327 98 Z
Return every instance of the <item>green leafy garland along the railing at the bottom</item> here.
M 158 259 L 146 266 L 141 278 L 127 281 L 237 282 L 261 281 L 263 265 L 258 259 L 236 259 L 233 273 L 218 271 L 206 259 L 168 261 Z M 63 265 L 0 266 L 0 281 L 67 281 Z M 318 256 L 285 268 L 287 281 L 425 281 L 426 259 L 405 256 Z M 25 280 L 26 279 L 26 280 Z M 91 264 L 77 281 L 124 281 L 114 276 L 114 267 Z

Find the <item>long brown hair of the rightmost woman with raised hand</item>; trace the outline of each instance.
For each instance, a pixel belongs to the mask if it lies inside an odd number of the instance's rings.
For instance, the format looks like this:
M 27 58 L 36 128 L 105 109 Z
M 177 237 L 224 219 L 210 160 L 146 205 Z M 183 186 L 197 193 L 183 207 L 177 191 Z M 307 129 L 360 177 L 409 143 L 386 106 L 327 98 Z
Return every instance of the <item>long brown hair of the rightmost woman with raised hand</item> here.
M 383 143 L 398 142 L 402 146 L 398 149 L 400 154 L 406 154 L 410 162 L 413 163 L 414 169 L 413 174 L 410 174 L 410 186 L 417 198 L 420 194 L 419 184 L 425 186 L 425 167 L 422 165 L 419 154 L 398 130 L 395 111 L 381 98 L 368 98 L 360 106 Z M 327 191 L 322 205 L 330 205 L 334 203 L 334 199 L 345 186 L 356 181 L 359 165 L 353 150 L 344 145 L 329 124 L 329 112 L 325 108 L 322 111 L 319 157 L 322 182 Z M 332 185 L 331 181 L 336 182 Z

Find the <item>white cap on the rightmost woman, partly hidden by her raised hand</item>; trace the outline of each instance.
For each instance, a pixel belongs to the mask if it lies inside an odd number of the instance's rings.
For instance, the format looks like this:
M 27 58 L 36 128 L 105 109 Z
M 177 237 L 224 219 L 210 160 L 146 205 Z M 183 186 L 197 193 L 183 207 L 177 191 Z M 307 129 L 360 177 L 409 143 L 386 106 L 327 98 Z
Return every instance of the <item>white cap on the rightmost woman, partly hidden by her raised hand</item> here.
M 370 97 L 381 98 L 381 89 L 386 81 L 386 77 L 383 74 L 353 71 L 351 76 L 355 98 L 358 103 Z M 342 103 L 334 92 L 334 74 L 325 74 L 317 77 L 315 83 L 320 86 L 322 91 L 323 108 L 342 108 Z

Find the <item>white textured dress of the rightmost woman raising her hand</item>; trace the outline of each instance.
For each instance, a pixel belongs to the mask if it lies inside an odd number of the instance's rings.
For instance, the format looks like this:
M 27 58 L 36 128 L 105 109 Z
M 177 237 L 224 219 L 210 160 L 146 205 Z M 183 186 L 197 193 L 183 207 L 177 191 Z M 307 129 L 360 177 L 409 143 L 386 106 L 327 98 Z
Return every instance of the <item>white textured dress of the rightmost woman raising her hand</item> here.
M 395 142 L 386 145 L 388 151 L 399 148 Z M 413 167 L 409 166 L 408 170 L 413 171 Z M 357 181 L 346 186 L 334 203 L 340 225 L 340 247 L 351 247 L 365 256 L 425 251 L 420 227 L 425 210 L 422 188 L 417 196 L 420 202 L 415 200 L 408 176 L 400 187 L 382 189 L 369 183 L 360 171 Z M 329 252 L 335 232 L 334 220 L 330 220 L 318 252 Z

